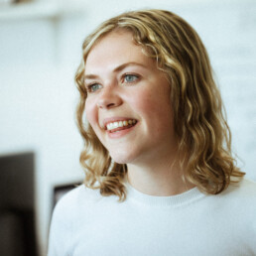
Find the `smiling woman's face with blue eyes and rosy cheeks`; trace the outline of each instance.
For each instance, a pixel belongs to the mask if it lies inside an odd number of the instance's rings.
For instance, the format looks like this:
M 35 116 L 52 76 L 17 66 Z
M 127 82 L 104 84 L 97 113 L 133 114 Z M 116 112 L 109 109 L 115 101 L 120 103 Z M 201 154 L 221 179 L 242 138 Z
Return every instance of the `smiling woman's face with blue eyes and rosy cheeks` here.
M 111 32 L 85 64 L 87 120 L 119 164 L 141 164 L 176 150 L 170 83 L 127 31 Z

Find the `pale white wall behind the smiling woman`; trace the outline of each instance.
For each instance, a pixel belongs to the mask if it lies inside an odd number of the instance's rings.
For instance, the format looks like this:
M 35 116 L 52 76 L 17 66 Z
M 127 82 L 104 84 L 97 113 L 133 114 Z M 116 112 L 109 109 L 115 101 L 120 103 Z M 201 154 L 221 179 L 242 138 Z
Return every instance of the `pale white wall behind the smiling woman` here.
M 153 3 L 152 3 L 153 2 Z M 37 154 L 37 220 L 46 254 L 55 185 L 82 179 L 73 82 L 82 39 L 99 22 L 134 8 L 165 8 L 204 42 L 222 92 L 234 149 L 256 181 L 256 1 L 88 1 L 76 17 L 0 22 L 0 154 Z

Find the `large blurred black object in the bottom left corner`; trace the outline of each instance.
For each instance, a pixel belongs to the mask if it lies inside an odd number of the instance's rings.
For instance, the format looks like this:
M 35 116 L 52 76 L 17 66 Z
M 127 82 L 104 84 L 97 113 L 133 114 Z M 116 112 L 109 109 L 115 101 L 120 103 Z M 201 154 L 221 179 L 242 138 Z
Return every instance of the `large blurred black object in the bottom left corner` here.
M 35 156 L 0 156 L 0 255 L 37 256 Z

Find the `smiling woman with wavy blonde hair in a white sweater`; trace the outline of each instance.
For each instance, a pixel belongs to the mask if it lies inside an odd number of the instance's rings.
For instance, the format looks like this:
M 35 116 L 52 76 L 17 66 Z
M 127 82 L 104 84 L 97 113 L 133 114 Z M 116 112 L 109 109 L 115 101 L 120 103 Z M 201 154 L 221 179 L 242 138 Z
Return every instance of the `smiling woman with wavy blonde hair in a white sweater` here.
M 192 27 L 168 11 L 124 13 L 82 50 L 85 187 L 57 205 L 49 255 L 256 255 L 256 185 L 235 166 Z

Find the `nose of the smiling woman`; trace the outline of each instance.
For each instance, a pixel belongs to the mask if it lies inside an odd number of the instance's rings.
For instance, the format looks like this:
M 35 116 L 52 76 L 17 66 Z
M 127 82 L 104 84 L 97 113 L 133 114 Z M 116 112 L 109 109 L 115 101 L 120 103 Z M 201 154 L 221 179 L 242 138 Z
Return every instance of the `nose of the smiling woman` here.
M 122 99 L 118 92 L 112 88 L 112 86 L 109 88 L 103 88 L 97 101 L 98 108 L 102 109 L 117 107 L 121 104 Z

